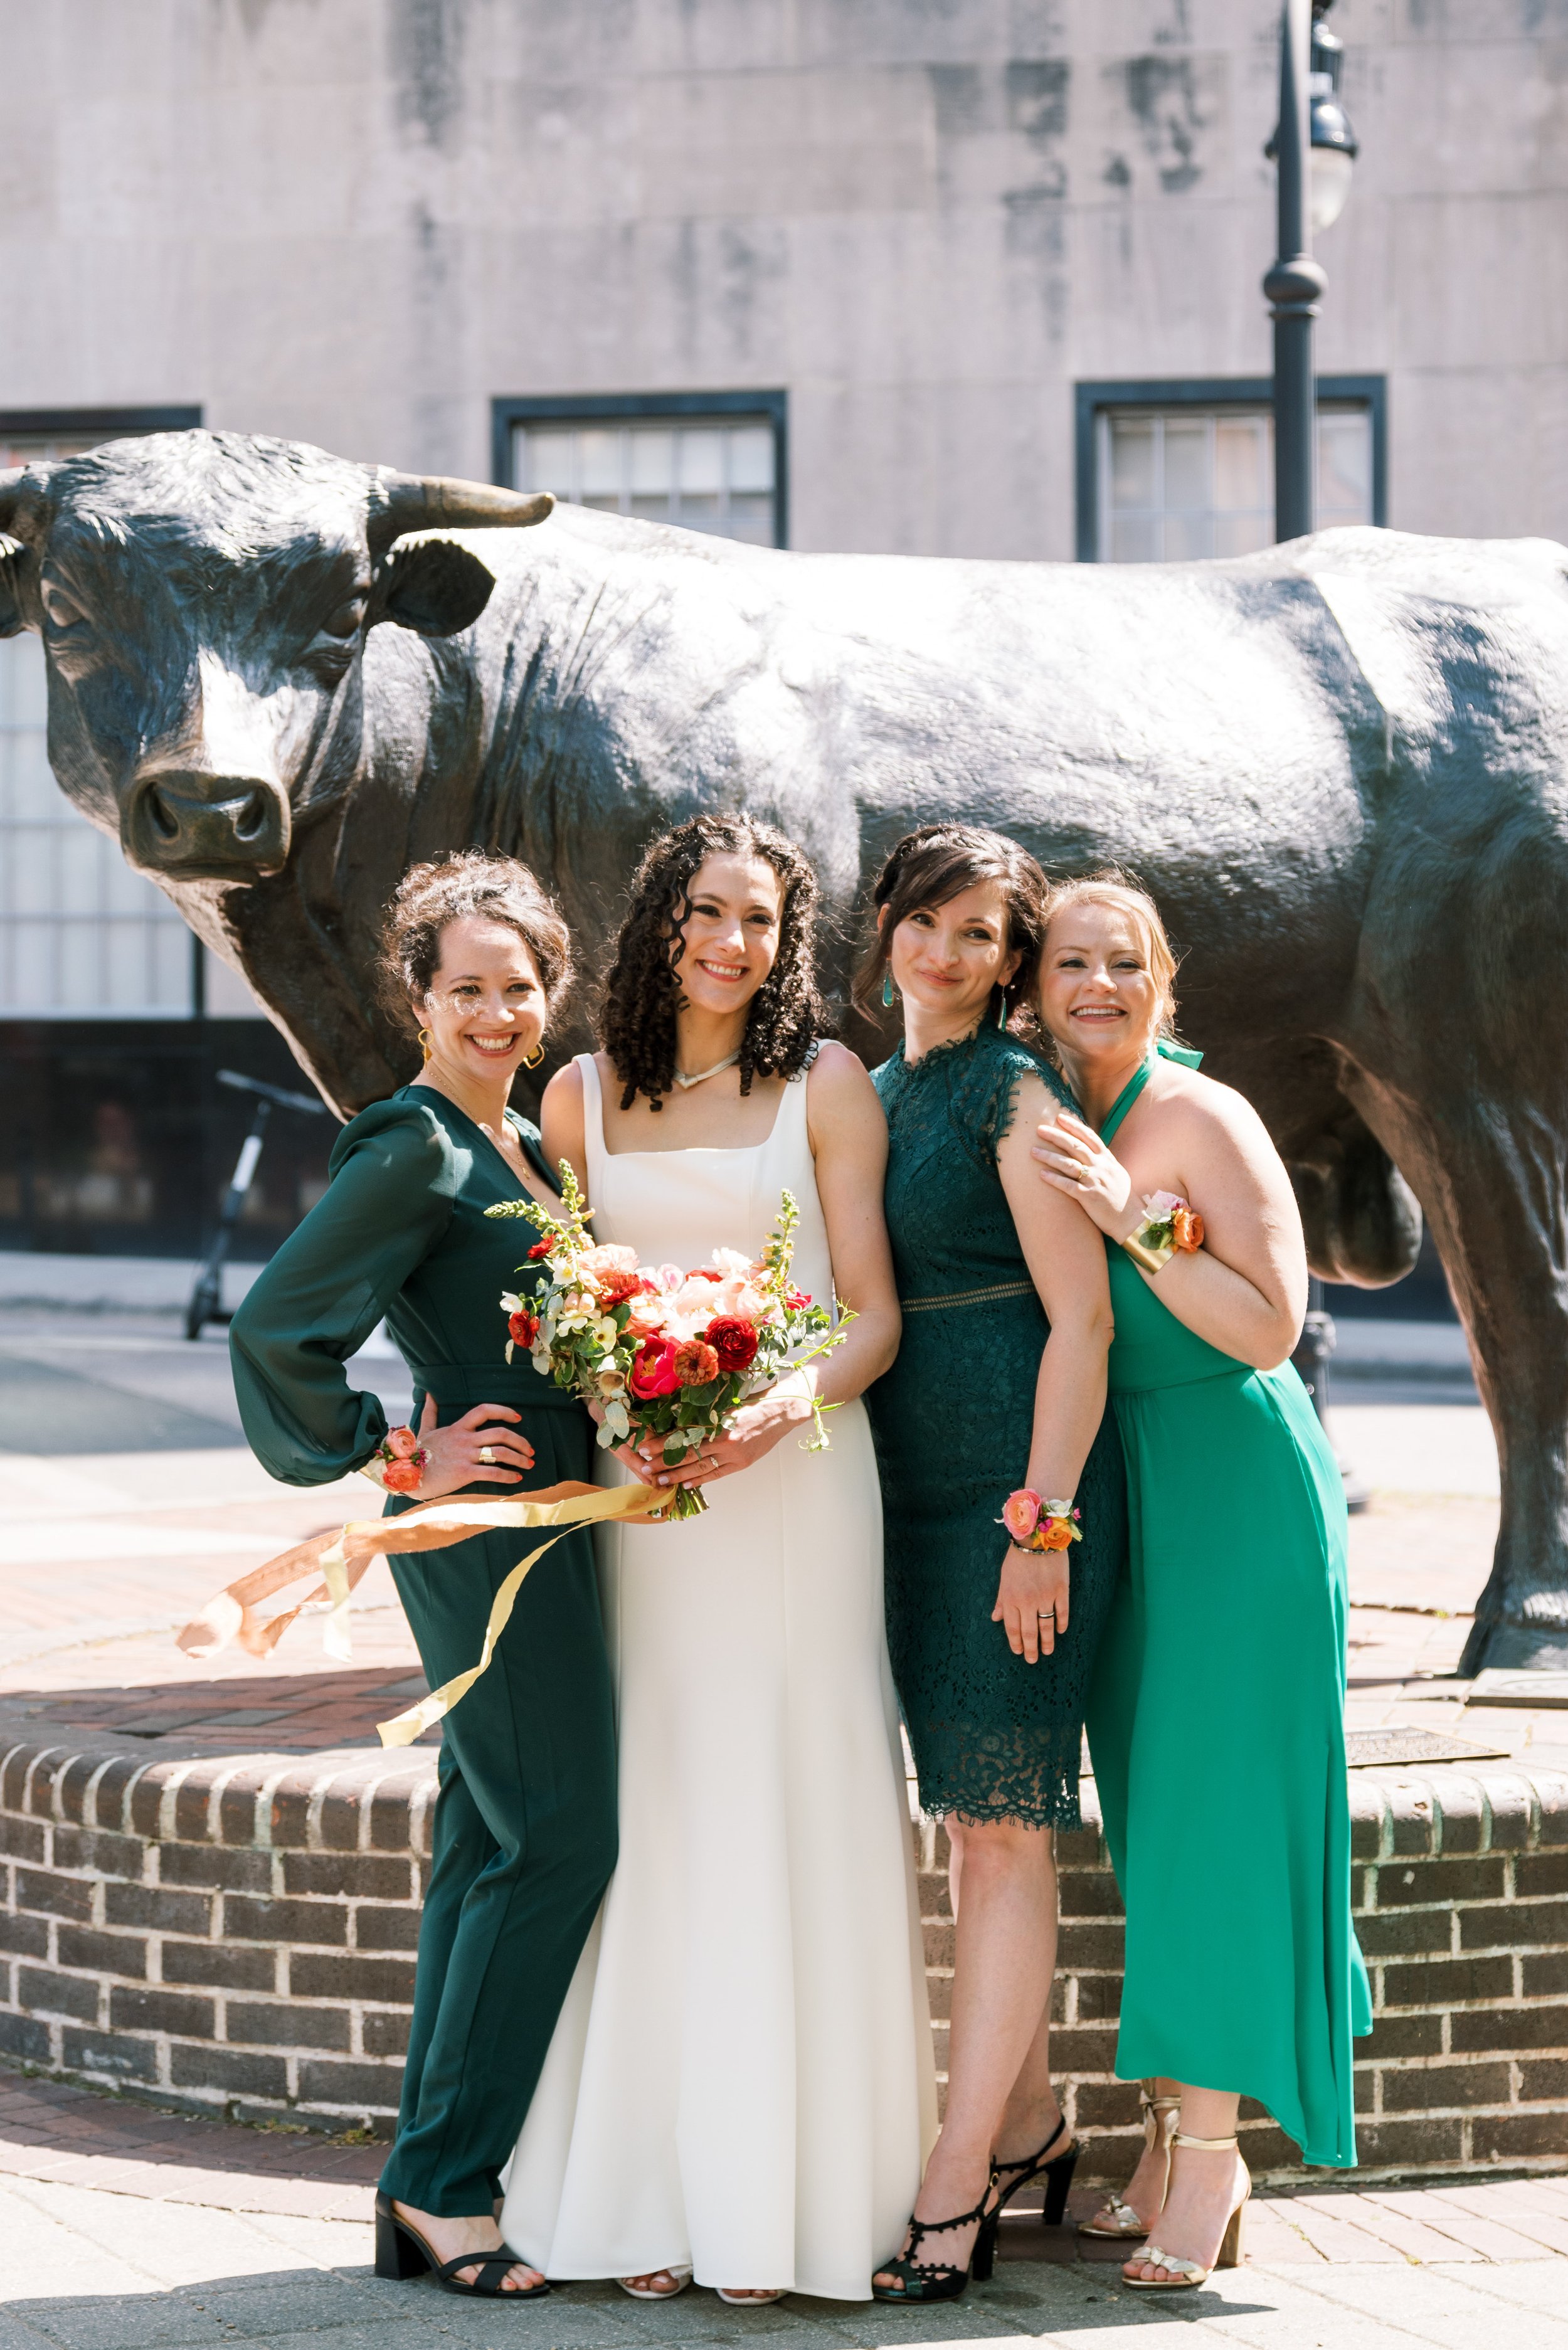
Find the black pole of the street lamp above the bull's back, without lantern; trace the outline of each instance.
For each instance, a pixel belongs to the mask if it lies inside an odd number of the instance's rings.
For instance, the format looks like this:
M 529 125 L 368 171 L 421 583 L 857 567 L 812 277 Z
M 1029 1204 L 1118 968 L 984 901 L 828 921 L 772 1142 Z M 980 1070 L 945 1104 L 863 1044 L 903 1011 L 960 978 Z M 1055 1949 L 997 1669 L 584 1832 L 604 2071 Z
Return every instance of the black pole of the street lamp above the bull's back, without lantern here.
M 1312 0 L 1286 0 L 1279 26 L 1279 251 L 1262 280 L 1274 315 L 1274 538 L 1305 538 L 1314 508 L 1312 320 L 1328 277 L 1312 258 L 1307 169 Z

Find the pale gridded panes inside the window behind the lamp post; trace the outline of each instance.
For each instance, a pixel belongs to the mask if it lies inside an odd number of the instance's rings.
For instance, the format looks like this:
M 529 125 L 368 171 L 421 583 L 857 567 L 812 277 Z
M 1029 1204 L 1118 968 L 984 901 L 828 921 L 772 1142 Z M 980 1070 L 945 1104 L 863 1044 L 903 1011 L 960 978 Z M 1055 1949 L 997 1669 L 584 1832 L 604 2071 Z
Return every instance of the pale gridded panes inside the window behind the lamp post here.
M 1100 562 L 1159 564 L 1258 555 L 1274 543 L 1269 409 L 1103 409 Z M 1366 407 L 1316 414 L 1319 529 L 1373 519 Z

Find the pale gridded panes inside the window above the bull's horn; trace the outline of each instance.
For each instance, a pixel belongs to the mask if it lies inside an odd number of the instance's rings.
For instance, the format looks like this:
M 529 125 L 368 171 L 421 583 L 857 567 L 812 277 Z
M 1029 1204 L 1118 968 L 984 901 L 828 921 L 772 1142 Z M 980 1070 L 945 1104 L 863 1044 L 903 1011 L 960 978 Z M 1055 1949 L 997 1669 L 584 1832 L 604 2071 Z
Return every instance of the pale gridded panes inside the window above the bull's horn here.
M 512 425 L 515 489 L 776 545 L 773 428 L 745 418 Z

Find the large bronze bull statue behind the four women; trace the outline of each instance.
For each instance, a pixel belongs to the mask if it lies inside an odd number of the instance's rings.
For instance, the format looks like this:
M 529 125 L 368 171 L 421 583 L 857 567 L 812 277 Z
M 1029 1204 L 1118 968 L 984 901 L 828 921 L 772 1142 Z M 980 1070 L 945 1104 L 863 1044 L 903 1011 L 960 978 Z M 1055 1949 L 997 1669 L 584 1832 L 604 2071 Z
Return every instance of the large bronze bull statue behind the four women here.
M 1314 1269 L 1396 1281 L 1432 1220 L 1502 1459 L 1467 1668 L 1568 1664 L 1563 548 L 778 555 L 228 432 L 0 475 L 0 533 L 61 787 L 343 1114 L 409 1074 L 371 956 L 437 848 L 527 858 L 588 966 L 698 806 L 780 822 L 844 916 L 940 815 L 1135 867 Z

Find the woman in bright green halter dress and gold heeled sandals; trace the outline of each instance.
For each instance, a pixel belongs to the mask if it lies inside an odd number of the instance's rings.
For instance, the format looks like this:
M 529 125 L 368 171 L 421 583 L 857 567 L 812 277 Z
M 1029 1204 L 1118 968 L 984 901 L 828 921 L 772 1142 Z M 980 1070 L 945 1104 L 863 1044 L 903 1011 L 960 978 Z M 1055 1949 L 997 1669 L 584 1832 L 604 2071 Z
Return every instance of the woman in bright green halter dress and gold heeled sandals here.
M 1152 2134 L 1093 2232 L 1152 2225 L 1124 2275 L 1166 2289 L 1237 2256 L 1239 2096 L 1307 2162 L 1354 2164 L 1352 2035 L 1371 2030 L 1349 1920 L 1345 1492 L 1288 1361 L 1300 1217 L 1262 1121 L 1159 1039 L 1171 975 L 1140 891 L 1056 893 L 1041 1018 L 1084 1119 L 1041 1126 L 1034 1156 L 1107 1236 L 1131 1504 L 1088 1701 L 1128 1913 L 1117 2073 L 1180 2101 L 1175 2153 Z M 1208 1246 L 1178 1229 L 1164 1255 L 1154 1191 L 1185 1191 Z

